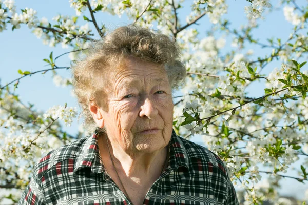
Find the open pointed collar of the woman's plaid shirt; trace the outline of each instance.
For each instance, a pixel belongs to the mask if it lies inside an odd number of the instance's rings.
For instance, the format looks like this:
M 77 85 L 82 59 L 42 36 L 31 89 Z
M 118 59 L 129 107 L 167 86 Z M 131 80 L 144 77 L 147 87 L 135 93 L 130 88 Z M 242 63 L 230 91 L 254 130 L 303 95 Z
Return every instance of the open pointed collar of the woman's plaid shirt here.
M 186 148 L 174 130 L 169 142 L 169 153 L 169 165 L 172 169 L 176 170 L 179 166 L 189 169 Z M 74 172 L 83 168 L 90 168 L 93 173 L 101 173 L 104 170 L 98 147 L 98 135 L 95 133 L 87 137 L 76 158 Z

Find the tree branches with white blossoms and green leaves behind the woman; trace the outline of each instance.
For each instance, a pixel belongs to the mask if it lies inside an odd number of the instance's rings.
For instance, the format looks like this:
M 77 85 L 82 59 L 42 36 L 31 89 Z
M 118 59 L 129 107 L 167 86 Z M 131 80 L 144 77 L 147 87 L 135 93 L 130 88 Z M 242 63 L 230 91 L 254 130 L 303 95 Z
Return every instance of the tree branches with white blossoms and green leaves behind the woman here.
M 185 138 L 203 137 L 205 145 L 225 162 L 236 187 L 244 190 L 244 204 L 261 204 L 264 200 L 277 202 L 279 193 L 273 188 L 282 178 L 293 178 L 295 183 L 308 180 L 306 158 L 296 167 L 297 176 L 288 174 L 288 167 L 297 162 L 300 155 L 308 156 L 308 100 L 305 99 L 308 72 L 303 71 L 308 53 L 308 5 L 282 0 L 278 7 L 294 29 L 285 42 L 268 39 L 265 44 L 253 36 L 253 30 L 258 28 L 264 13 L 273 10 L 269 0 L 247 1 L 243 12 L 248 24 L 240 29 L 231 29 L 232 24 L 224 19 L 228 8 L 225 0 L 191 1 L 186 22 L 179 20 L 183 0 L 69 2 L 76 11 L 75 16 L 40 19 L 32 8 L 17 11 L 13 0 L 0 0 L 0 32 L 14 31 L 26 24 L 44 44 L 71 48 L 60 56 L 51 53 L 43 59 L 48 69 L 18 70 L 20 77 L 0 85 L 0 189 L 14 190 L 6 196 L 12 203 L 19 199 L 42 153 L 86 134 L 69 135 L 59 123 L 63 121 L 70 126 L 77 114 L 76 108 L 60 105 L 45 113 L 38 112 L 14 91 L 23 78 L 46 72 L 53 73 L 57 84 L 71 86 L 69 79 L 57 75 L 60 69 L 69 70 L 70 65 L 59 66 L 57 59 L 69 55 L 74 60 L 87 51 L 95 36 L 104 38 L 108 29 L 95 18 L 99 12 L 118 17 L 125 14 L 132 24 L 157 28 L 179 43 L 188 76 L 179 87 L 181 94 L 174 96 L 174 129 Z M 206 37 L 200 38 L 196 24 L 206 16 L 213 27 Z M 233 50 L 222 54 L 226 40 L 216 38 L 219 32 L 233 37 Z M 272 52 L 264 56 L 254 56 L 250 51 L 239 54 L 247 45 L 271 48 Z M 274 61 L 279 61 L 281 66 L 272 69 Z M 264 68 L 272 72 L 261 74 Z M 264 94 L 248 97 L 246 88 L 255 82 L 264 83 Z M 269 171 L 259 170 L 261 164 Z M 261 177 L 264 174 L 268 175 L 268 187 L 258 186 L 258 181 L 265 180 Z

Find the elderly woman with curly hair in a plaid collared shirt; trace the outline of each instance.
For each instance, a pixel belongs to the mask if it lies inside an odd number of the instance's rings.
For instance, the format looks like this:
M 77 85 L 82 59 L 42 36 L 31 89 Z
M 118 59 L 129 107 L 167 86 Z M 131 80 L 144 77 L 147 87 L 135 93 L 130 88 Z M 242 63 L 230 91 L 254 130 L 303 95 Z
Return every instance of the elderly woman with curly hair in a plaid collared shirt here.
M 43 157 L 20 204 L 238 204 L 223 162 L 172 130 L 179 53 L 136 26 L 94 43 L 72 66 L 93 134 Z

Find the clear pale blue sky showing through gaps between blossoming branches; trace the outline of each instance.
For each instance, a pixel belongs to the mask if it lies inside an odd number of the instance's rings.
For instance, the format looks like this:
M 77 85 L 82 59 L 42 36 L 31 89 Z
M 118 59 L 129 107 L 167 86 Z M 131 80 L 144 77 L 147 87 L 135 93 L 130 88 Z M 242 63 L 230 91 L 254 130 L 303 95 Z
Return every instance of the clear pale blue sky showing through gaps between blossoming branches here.
M 239 28 L 240 25 L 247 22 L 246 15 L 244 13 L 244 6 L 248 6 L 249 3 L 244 0 L 228 0 L 229 4 L 228 14 L 224 15 L 231 23 L 231 28 Z M 278 6 L 279 1 L 272 1 L 274 8 Z M 191 1 L 185 1 L 183 4 L 184 9 L 179 11 L 179 17 L 182 23 L 185 23 L 186 14 L 190 12 Z M 16 0 L 17 9 L 21 8 L 33 8 L 37 11 L 39 18 L 46 17 L 49 20 L 57 14 L 64 15 L 75 15 L 75 11 L 70 8 L 68 1 L 53 0 L 53 1 L 22 1 Z M 88 15 L 88 13 L 86 13 Z M 123 24 L 131 23 L 125 16 L 118 18 L 108 14 L 98 14 L 98 22 L 104 22 L 107 27 L 115 28 Z M 82 21 L 81 21 L 82 22 Z M 200 31 L 200 37 L 206 35 L 206 30 L 210 27 L 208 17 L 205 16 L 198 22 L 198 28 Z M 194 25 L 194 27 L 196 27 Z M 253 31 L 253 36 L 260 39 L 260 42 L 266 43 L 266 38 L 281 38 L 282 42 L 287 39 L 288 35 L 292 31 L 293 26 L 291 23 L 286 22 L 284 19 L 283 11 L 280 9 L 274 9 L 274 12 L 265 14 L 265 20 L 260 20 L 260 26 L 258 29 Z M 51 48 L 44 46 L 41 39 L 37 39 L 34 34 L 30 32 L 25 25 L 21 29 L 16 29 L 13 32 L 10 27 L 8 30 L 0 33 L 1 44 L 0 44 L 0 79 L 1 85 L 8 83 L 9 81 L 20 77 L 17 70 L 23 71 L 37 71 L 47 69 L 46 63 L 43 61 L 44 58 L 48 58 L 51 51 L 53 56 L 58 56 L 69 50 L 64 50 L 61 46 Z M 219 36 L 217 36 L 218 38 Z M 226 51 L 230 49 L 230 43 L 232 37 L 227 38 Z M 264 53 L 271 53 L 271 49 L 261 49 L 259 46 L 250 46 L 247 49 L 254 50 L 254 59 L 257 56 L 264 56 Z M 57 61 L 58 66 L 68 66 L 69 58 L 63 56 Z M 273 70 L 274 67 L 279 67 L 280 63 L 274 62 L 266 67 L 262 74 L 268 74 Z M 70 73 L 66 70 L 57 71 L 64 77 L 69 77 Z M 264 81 L 261 83 L 254 83 L 247 88 L 249 96 L 259 97 L 264 94 Z M 25 77 L 20 81 L 20 86 L 16 90 L 16 93 L 20 95 L 20 98 L 24 103 L 30 102 L 35 105 L 37 110 L 46 111 L 48 108 L 54 105 L 64 105 L 67 103 L 68 106 L 78 106 L 76 100 L 70 96 L 69 88 L 59 88 L 53 84 L 51 72 L 46 74 L 35 74 L 31 77 Z M 66 130 L 70 134 L 77 132 L 78 123 L 76 120 L 73 122 L 72 127 Z M 193 139 L 194 141 L 201 143 L 200 138 Z M 299 164 L 296 165 L 299 167 Z M 295 172 L 292 172 L 295 174 Z M 307 189 L 306 185 L 300 185 L 295 180 L 284 180 L 283 188 L 281 193 L 297 195 L 301 197 L 303 191 Z M 299 191 L 300 190 L 300 191 Z

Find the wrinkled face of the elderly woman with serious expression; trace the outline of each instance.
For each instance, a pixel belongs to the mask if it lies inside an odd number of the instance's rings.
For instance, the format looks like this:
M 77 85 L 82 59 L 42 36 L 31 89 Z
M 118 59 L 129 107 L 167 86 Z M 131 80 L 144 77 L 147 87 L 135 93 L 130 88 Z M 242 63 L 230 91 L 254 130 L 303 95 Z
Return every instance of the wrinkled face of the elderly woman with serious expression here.
M 172 133 L 173 113 L 165 69 L 127 58 L 124 68 L 117 69 L 109 82 L 108 111 L 100 108 L 109 139 L 132 154 L 165 147 Z

